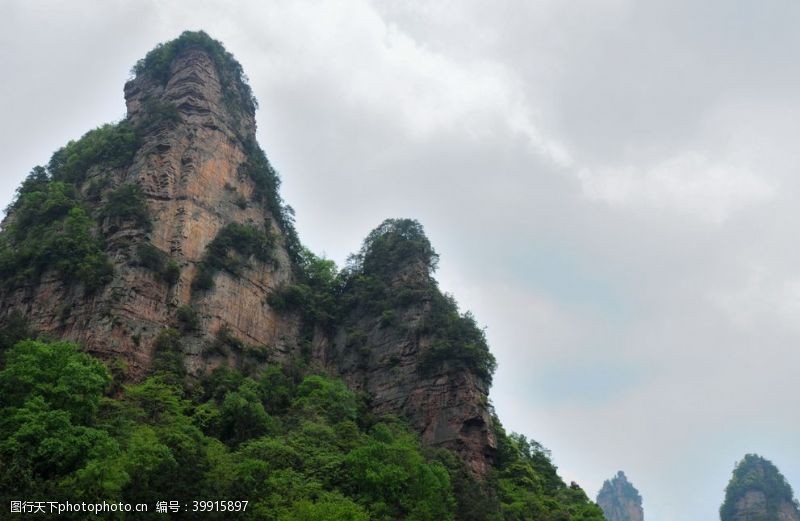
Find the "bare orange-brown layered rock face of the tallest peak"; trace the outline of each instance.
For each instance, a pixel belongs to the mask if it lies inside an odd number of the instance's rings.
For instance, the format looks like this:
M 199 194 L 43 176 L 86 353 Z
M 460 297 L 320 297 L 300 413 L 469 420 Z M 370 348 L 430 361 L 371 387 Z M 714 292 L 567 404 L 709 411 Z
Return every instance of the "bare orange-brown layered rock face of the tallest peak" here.
M 93 181 L 109 189 L 138 184 L 147 198 L 152 229 L 102 223 L 101 234 L 115 268 L 109 284 L 87 296 L 80 287 L 46 274 L 36 284 L 3 295 L 2 316 L 20 311 L 40 331 L 80 342 L 105 358 L 122 358 L 132 378 L 147 369 L 154 338 L 163 327 L 175 325 L 181 305 L 192 306 L 200 322 L 197 334 L 184 342 L 190 371 L 236 361 L 237 353 L 232 352 L 202 356 L 223 326 L 230 335 L 264 346 L 271 355 L 281 357 L 290 351 L 296 324 L 290 317 L 278 317 L 265 301 L 271 288 L 291 280 L 289 257 L 273 216 L 252 201 L 253 182 L 240 173 L 246 161 L 244 140 L 255 139 L 254 112 L 246 107 L 232 111 L 222 90 L 215 63 L 197 47 L 175 57 L 164 84 L 141 75 L 125 86 L 132 124 L 140 124 L 159 106 L 177 108 L 180 121 L 145 129 L 130 167 L 90 168 L 83 190 Z M 278 237 L 275 262 L 250 259 L 240 276 L 219 271 L 213 289 L 193 292 L 191 281 L 206 246 L 231 222 L 269 226 Z M 135 247 L 148 242 L 178 263 L 176 284 L 136 266 Z

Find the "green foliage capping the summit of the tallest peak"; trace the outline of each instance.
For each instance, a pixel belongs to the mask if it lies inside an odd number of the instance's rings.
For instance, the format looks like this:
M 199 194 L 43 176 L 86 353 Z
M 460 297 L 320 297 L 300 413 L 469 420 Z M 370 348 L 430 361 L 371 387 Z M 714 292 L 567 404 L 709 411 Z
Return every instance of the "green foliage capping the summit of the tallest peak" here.
M 193 47 L 203 49 L 214 61 L 222 86 L 223 99 L 229 109 L 242 107 L 247 113 L 254 114 L 258 105 L 247 84 L 242 66 L 225 50 L 222 43 L 203 31 L 184 31 L 178 38 L 159 44 L 136 62 L 131 72 L 136 76 L 147 75 L 161 84 L 166 84 L 172 61 L 180 53 Z

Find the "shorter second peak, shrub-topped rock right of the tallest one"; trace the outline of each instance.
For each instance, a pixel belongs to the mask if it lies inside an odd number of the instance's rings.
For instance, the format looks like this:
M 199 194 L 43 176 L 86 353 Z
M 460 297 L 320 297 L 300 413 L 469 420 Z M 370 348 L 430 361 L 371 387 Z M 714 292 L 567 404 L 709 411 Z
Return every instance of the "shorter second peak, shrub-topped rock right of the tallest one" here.
M 345 288 L 344 300 L 352 305 L 331 339 L 321 342 L 320 358 L 351 387 L 366 391 L 375 412 L 402 413 L 424 442 L 455 450 L 469 468 L 483 475 L 495 451 L 487 408 L 491 370 L 482 369 L 476 358 L 470 358 L 472 367 L 464 367 L 455 353 L 439 362 L 434 359 L 436 346 L 449 341 L 443 319 L 452 324 L 448 318 L 454 318 L 467 331 L 478 330 L 463 323 L 470 319 L 452 316 L 449 301 L 431 276 L 436 254 L 416 226 L 388 220 L 373 232 L 380 242 L 365 247 L 361 273 L 382 291 L 370 287 L 372 296 L 365 301 L 359 298 L 364 288 L 357 281 Z M 406 251 L 398 254 L 400 248 Z M 381 310 L 375 298 L 391 304 Z M 471 340 L 484 341 L 482 333 Z

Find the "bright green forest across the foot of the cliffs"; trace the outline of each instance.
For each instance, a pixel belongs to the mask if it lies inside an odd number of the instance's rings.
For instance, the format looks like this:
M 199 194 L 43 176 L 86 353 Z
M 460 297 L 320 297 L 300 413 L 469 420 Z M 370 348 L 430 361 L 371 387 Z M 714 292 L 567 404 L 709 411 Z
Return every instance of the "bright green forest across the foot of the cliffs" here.
M 165 329 L 152 375 L 119 387 L 74 344 L 17 341 L 29 333 L 0 332 L 17 342 L 0 371 L 6 504 L 202 497 L 250 501 L 241 516 L 206 519 L 602 519 L 547 451 L 499 423 L 497 471 L 480 485 L 452 453 L 422 448 L 402 421 L 372 416 L 340 380 L 303 365 L 219 369 L 189 385 L 181 335 Z

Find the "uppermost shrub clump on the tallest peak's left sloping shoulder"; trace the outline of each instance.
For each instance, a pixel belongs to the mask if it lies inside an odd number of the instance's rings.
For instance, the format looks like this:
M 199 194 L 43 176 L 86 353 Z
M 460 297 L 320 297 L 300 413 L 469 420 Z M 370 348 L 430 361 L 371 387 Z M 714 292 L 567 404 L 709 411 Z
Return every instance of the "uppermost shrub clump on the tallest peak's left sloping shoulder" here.
M 123 120 L 90 130 L 78 141 L 70 141 L 53 154 L 47 170 L 55 181 L 80 186 L 90 167 L 128 166 L 140 141 L 130 123 Z

